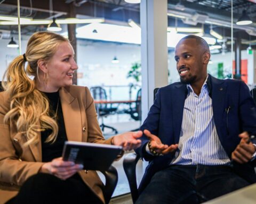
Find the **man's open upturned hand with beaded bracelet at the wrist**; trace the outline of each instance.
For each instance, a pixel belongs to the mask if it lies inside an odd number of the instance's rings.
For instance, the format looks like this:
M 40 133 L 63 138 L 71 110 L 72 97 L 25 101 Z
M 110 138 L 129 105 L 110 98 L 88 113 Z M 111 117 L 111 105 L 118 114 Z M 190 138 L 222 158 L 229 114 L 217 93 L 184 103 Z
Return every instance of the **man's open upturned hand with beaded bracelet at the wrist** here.
M 151 148 L 159 154 L 166 155 L 178 148 L 178 144 L 170 146 L 164 145 L 162 141 L 156 137 L 156 135 L 151 134 L 148 130 L 144 130 L 143 133 L 149 138 L 151 142 Z

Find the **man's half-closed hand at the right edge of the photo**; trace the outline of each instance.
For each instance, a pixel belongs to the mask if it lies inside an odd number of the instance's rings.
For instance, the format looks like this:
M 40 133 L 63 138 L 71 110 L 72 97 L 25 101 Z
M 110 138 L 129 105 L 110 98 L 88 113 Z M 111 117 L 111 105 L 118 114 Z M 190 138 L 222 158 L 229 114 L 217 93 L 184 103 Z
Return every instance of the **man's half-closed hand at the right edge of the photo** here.
M 232 152 L 231 158 L 235 162 L 244 164 L 252 159 L 252 155 L 254 154 L 256 149 L 252 142 L 249 142 L 250 137 L 247 132 L 239 134 L 239 138 L 241 138 L 241 141 L 236 149 Z

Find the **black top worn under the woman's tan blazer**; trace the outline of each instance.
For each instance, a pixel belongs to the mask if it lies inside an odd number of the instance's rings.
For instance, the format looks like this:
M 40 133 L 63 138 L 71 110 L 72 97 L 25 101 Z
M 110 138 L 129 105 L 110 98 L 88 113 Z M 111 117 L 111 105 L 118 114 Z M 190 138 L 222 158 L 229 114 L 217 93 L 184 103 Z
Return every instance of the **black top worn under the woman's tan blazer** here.
M 57 124 L 59 126 L 59 132 L 57 135 L 57 139 L 54 143 L 45 142 L 46 138 L 50 135 L 51 130 L 45 130 L 41 132 L 42 139 L 42 162 L 51 162 L 52 159 L 61 157 L 62 149 L 65 141 L 67 140 L 67 134 L 65 130 L 65 123 L 60 103 L 59 92 L 46 93 L 42 92 L 48 99 L 50 105 L 50 113 L 49 115 L 52 118 L 55 118 L 55 114 L 57 112 Z M 59 103 L 59 105 L 58 105 Z M 57 110 L 58 107 L 58 110 Z

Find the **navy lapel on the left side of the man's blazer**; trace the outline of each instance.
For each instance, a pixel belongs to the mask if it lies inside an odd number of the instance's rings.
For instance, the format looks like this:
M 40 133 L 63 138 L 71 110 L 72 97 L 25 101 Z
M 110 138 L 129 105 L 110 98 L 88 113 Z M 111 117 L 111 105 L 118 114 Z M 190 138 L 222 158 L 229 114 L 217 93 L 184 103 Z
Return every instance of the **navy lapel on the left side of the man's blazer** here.
M 177 84 L 172 96 L 173 107 L 173 124 L 174 124 L 174 142 L 178 143 L 180 139 L 180 130 L 183 118 L 183 108 L 187 97 L 186 84 Z

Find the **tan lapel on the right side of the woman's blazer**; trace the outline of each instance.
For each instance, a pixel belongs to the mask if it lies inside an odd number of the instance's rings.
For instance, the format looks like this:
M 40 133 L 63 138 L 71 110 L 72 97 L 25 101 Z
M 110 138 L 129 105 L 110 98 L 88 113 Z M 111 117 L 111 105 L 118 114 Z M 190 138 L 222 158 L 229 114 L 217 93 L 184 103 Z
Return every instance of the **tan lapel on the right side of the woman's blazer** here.
M 78 99 L 65 88 L 59 91 L 68 140 L 82 141 L 82 118 Z

